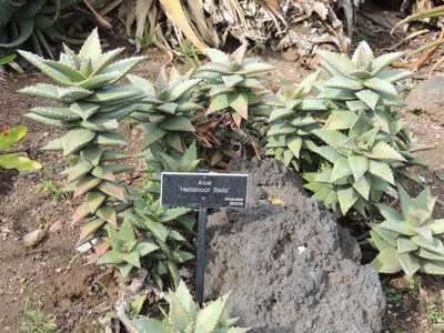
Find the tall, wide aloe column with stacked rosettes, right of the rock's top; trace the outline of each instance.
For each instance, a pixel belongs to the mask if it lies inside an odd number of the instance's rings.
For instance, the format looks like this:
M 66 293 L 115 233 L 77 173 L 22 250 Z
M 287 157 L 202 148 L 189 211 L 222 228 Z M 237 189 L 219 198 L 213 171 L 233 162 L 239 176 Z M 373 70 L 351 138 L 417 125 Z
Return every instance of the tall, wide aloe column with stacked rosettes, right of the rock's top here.
M 414 179 L 408 167 L 423 165 L 393 111 L 402 104 L 394 82 L 410 72 L 386 70 L 401 53 L 374 58 L 365 42 L 352 59 L 332 52 L 320 56 L 331 77 L 315 84 L 316 98 L 327 102 L 329 111 L 307 132 L 305 147 L 320 157 L 321 167 L 304 173 L 305 188 L 330 209 L 346 214 L 353 208 L 365 215 L 383 194 L 396 198 L 403 176 Z

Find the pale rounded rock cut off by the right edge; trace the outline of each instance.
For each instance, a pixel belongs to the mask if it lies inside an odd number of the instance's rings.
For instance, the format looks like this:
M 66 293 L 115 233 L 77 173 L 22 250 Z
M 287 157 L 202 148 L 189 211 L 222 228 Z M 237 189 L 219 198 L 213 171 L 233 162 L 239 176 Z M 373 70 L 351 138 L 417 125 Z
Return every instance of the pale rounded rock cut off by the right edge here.
M 407 112 L 426 114 L 436 124 L 444 124 L 444 77 L 432 77 L 413 89 L 407 97 Z

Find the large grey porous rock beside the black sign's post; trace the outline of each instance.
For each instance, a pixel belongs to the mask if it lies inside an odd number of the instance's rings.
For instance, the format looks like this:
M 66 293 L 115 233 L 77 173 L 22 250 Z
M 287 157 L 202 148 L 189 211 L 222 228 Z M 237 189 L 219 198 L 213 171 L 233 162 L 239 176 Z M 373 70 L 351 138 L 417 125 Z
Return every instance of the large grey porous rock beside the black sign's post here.
M 379 275 L 353 238 L 280 163 L 242 164 L 249 206 L 210 215 L 205 296 L 231 292 L 229 311 L 252 333 L 381 331 Z

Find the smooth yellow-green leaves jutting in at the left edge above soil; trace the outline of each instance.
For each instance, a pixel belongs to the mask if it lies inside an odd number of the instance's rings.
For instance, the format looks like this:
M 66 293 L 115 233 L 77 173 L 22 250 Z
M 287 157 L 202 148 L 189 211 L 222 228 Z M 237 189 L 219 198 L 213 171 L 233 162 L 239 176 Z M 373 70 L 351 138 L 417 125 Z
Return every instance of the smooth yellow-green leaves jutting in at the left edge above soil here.
M 8 150 L 22 140 L 27 132 L 26 125 L 6 127 L 0 130 L 0 169 L 32 171 L 42 168 L 39 162 L 28 159 L 26 153 L 8 153 Z

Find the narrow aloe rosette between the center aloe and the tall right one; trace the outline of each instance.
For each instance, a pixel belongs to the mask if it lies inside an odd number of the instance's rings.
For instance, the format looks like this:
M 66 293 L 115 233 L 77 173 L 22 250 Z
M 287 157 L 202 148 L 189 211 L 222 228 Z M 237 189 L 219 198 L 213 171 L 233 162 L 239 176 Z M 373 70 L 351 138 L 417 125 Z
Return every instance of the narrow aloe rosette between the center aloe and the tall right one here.
M 266 131 L 266 153 L 282 161 L 285 167 L 300 169 L 301 160 L 312 162 L 306 145 L 314 139 L 313 130 L 321 129 L 329 114 L 327 103 L 310 99 L 319 72 L 312 73 L 295 89 L 281 89 L 269 99 L 272 111 Z

